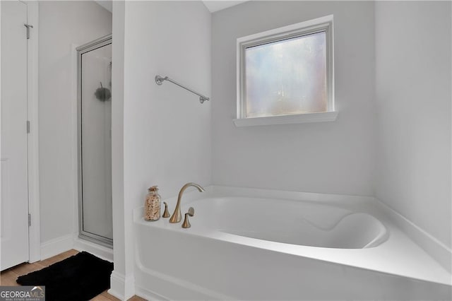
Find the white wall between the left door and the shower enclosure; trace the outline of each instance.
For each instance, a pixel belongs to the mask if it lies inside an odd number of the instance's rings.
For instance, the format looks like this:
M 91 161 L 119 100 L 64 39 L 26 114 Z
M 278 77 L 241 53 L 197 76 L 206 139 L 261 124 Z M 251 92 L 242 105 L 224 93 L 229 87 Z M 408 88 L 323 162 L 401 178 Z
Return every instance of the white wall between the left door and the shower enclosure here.
M 112 33 L 112 13 L 93 1 L 41 1 L 39 13 L 41 242 L 48 242 L 78 230 L 72 47 Z

